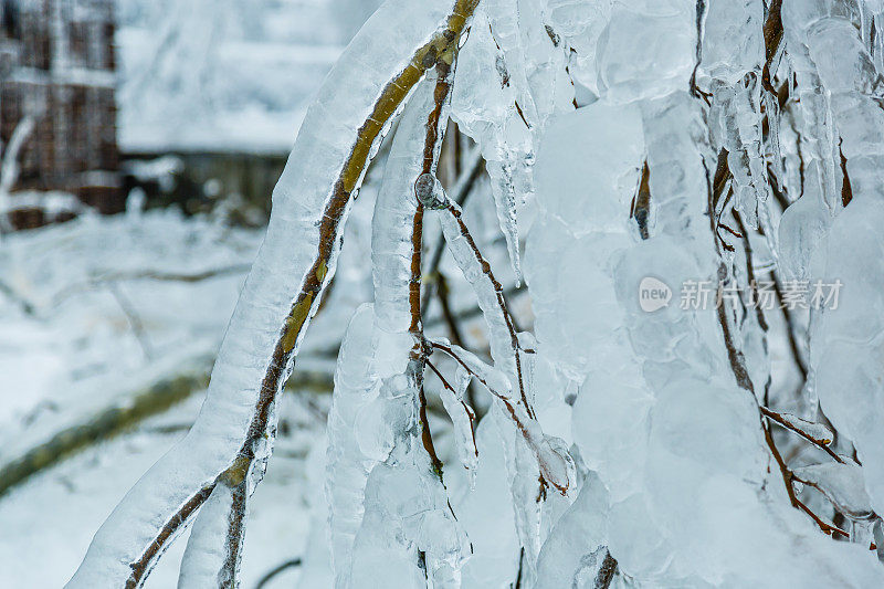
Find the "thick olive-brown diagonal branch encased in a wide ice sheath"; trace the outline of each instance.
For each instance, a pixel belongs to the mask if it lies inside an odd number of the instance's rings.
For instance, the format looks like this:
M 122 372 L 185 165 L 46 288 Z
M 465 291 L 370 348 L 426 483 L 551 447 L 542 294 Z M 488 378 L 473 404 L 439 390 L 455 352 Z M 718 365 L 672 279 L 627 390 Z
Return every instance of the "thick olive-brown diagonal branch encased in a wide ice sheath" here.
M 140 586 L 217 485 L 240 474 L 249 477 L 249 491 L 260 482 L 272 449 L 277 393 L 334 275 L 344 223 L 367 165 L 411 88 L 456 46 L 476 3 L 391 0 L 345 51 L 309 108 L 274 190 L 267 235 L 198 421 L 108 517 L 71 587 Z

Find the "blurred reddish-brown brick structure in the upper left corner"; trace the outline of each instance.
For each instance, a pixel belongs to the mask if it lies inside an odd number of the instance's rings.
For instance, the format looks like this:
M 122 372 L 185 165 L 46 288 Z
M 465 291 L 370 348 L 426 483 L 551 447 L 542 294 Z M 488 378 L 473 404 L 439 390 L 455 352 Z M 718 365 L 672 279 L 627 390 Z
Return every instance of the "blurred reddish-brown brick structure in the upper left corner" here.
M 0 0 L 0 7 L 3 146 L 23 117 L 35 122 L 13 198 L 60 190 L 103 213 L 122 211 L 114 0 Z

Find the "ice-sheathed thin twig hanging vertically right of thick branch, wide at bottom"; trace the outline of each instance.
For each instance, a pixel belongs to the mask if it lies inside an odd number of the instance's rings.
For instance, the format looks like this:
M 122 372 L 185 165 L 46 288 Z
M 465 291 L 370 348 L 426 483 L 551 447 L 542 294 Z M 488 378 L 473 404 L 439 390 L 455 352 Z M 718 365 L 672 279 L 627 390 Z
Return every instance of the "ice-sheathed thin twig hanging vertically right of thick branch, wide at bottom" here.
M 332 505 L 333 561 L 336 586 L 358 586 L 371 575 L 372 558 L 397 562 L 388 582 L 407 587 L 423 569 L 434 583 L 460 578 L 469 550 L 445 498 L 442 463 L 436 456 L 427 419 L 423 390 L 428 350 L 421 318 L 423 207 L 413 196 L 415 180 L 435 173 L 448 123 L 454 52 L 442 56 L 434 72 L 414 91 L 406 107 L 387 158 L 375 204 L 371 232 L 373 324 L 361 337 L 377 341 L 367 357 L 345 347 L 338 374 L 368 361 L 362 386 L 338 381 L 329 418 L 328 493 Z M 350 330 L 358 323 L 357 316 Z M 349 334 L 349 332 L 348 332 Z M 364 353 L 365 354 L 365 353 Z M 434 368 L 433 368 L 434 369 Z M 338 392 L 339 389 L 339 392 Z M 352 416 L 361 416 L 359 423 Z M 356 431 L 354 431 L 356 430 Z M 410 490 L 383 487 L 381 482 L 407 478 Z M 400 513 L 408 499 L 420 507 L 424 522 Z M 382 515 L 382 523 L 378 518 Z M 378 534 L 396 534 L 382 546 Z

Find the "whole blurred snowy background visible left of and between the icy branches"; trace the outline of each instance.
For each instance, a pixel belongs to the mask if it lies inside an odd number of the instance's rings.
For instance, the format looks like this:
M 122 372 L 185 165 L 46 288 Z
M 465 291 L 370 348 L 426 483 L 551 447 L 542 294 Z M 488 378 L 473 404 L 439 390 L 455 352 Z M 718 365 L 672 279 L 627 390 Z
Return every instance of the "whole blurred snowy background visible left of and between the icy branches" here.
M 379 3 L 0 0 L 0 587 L 62 586 L 116 503 L 187 432 L 305 109 Z M 449 133 L 444 183 L 477 169 L 467 144 Z M 246 588 L 327 586 L 322 554 L 314 571 L 301 564 L 325 549 L 325 417 L 344 329 L 371 299 L 383 156 L 282 400 Z M 475 186 L 487 198 L 465 214 L 512 285 L 484 175 Z M 428 328 L 485 349 L 438 225 L 425 231 L 438 264 L 424 280 L 441 302 L 430 301 Z M 439 406 L 430 399 L 445 460 Z M 147 587 L 175 586 L 183 547 Z

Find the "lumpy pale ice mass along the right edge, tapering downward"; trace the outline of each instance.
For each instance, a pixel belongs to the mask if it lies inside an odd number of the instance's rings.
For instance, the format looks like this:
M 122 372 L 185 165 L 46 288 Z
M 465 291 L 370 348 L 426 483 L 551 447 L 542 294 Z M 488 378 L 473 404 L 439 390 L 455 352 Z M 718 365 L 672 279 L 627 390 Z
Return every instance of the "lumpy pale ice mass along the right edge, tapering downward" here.
M 853 442 L 877 512 L 884 509 L 884 411 L 882 389 L 875 385 L 882 379 L 884 329 L 876 311 L 882 293 L 884 72 L 872 54 L 877 42 L 871 30 L 880 18 L 878 2 L 782 3 L 787 53 L 799 85 L 801 133 L 812 156 L 807 167 L 815 173 L 806 173 L 810 181 L 783 213 L 781 233 L 804 250 L 796 255 L 807 261 L 796 264 L 800 277 L 836 276 L 850 285 L 836 309 L 813 313 L 810 385 L 839 434 Z M 809 263 L 812 257 L 817 264 Z

